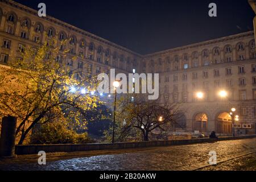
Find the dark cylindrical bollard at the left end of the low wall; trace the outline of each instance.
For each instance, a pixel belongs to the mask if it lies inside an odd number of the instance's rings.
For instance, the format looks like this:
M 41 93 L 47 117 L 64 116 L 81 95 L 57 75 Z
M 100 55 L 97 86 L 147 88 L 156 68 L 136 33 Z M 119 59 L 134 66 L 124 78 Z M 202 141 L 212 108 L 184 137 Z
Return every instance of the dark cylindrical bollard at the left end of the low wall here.
M 15 117 L 3 117 L 0 138 L 0 158 L 15 158 Z

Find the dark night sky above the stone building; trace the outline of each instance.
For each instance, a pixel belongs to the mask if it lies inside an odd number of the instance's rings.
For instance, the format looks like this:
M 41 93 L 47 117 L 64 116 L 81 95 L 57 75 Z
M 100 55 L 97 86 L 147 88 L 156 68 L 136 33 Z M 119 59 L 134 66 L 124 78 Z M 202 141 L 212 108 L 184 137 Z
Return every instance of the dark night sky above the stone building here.
M 146 54 L 253 30 L 247 0 L 15 0 L 32 9 Z M 217 4 L 217 17 L 208 5 Z

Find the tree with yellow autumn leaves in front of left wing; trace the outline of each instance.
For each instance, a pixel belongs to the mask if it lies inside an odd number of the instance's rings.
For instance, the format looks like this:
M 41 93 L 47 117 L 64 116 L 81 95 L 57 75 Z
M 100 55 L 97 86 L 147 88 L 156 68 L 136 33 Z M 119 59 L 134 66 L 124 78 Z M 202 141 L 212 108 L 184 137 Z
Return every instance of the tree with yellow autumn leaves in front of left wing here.
M 96 78 L 65 64 L 68 56 L 68 50 L 61 52 L 56 40 L 47 38 L 38 48 L 27 47 L 22 59 L 0 70 L 0 115 L 18 119 L 19 144 L 37 123 L 59 120 L 71 129 L 86 127 L 88 111 L 100 103 L 90 94 L 96 90 Z M 76 59 L 72 56 L 74 62 Z

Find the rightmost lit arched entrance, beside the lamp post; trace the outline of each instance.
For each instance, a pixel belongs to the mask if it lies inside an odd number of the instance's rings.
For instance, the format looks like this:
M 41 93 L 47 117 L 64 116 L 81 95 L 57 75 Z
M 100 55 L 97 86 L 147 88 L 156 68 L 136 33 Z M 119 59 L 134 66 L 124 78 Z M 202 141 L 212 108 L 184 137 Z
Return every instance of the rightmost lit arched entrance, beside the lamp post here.
M 229 113 L 220 113 L 216 118 L 216 131 L 220 134 L 232 134 L 232 117 Z

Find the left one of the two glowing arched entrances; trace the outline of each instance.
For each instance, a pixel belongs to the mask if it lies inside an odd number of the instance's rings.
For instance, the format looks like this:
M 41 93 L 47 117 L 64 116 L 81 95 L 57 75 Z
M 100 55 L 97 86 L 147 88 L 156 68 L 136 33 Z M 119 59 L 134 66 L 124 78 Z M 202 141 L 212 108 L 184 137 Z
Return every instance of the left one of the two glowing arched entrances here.
M 196 114 L 193 122 L 193 130 L 205 133 L 207 131 L 208 117 L 205 113 Z

